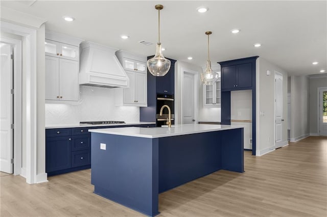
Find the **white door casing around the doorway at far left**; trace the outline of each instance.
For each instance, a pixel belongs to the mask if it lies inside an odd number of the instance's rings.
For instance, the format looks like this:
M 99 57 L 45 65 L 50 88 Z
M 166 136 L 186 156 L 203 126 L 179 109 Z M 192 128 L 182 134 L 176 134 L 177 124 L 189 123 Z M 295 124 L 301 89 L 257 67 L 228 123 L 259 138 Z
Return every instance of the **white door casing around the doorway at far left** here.
M 44 177 L 37 180 L 37 32 L 35 29 L 5 21 L 1 21 L 1 31 L 21 36 L 26 45 L 26 49 L 22 51 L 22 55 L 25 56 L 24 74 L 26 76 L 26 91 L 22 95 L 22 98 L 26 100 L 27 111 L 24 120 L 25 131 L 22 132 L 26 135 L 24 144 L 26 146 L 26 168 L 24 171 L 21 170 L 21 175 L 29 184 L 43 182 Z

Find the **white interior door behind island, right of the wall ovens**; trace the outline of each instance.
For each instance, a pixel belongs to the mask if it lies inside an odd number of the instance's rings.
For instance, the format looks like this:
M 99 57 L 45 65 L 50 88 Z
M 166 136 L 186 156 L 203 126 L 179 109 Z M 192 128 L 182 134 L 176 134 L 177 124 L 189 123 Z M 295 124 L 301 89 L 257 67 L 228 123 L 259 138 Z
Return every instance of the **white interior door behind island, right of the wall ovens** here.
M 191 73 L 184 73 L 183 75 L 183 104 L 182 115 L 183 124 L 191 124 L 195 122 L 194 119 L 194 75 Z

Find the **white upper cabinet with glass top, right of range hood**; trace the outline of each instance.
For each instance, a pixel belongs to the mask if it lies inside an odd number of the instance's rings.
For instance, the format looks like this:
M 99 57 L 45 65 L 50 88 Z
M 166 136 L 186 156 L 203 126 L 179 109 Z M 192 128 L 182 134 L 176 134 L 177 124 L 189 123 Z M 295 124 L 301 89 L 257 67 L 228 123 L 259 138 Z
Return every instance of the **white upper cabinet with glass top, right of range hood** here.
M 118 60 L 129 77 L 129 88 L 116 88 L 116 105 L 146 107 L 147 103 L 147 58 L 119 50 Z

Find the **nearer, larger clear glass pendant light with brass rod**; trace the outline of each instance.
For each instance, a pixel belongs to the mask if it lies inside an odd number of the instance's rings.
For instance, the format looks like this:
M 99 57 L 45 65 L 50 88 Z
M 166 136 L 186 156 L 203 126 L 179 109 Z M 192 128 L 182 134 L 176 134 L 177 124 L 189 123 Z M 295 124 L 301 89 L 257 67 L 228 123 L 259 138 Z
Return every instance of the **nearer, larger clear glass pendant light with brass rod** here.
M 147 65 L 150 73 L 154 76 L 164 76 L 170 69 L 170 60 L 167 60 L 164 55 L 162 55 L 160 43 L 160 10 L 162 10 L 164 6 L 156 5 L 154 8 L 158 10 L 158 43 L 155 55 L 148 60 Z

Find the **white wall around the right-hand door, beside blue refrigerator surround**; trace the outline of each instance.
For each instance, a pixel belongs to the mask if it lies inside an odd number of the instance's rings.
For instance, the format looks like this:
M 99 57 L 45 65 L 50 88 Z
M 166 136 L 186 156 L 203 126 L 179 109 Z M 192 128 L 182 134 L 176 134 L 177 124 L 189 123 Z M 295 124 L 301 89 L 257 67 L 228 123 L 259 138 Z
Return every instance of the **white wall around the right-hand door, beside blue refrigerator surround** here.
M 271 72 L 268 76 L 267 70 Z M 258 58 L 256 70 L 256 155 L 274 150 L 274 72 L 283 74 L 283 133 L 282 141 L 287 141 L 287 72 L 269 61 Z M 259 84 L 259 86 L 258 86 Z M 260 113 L 262 115 L 260 115 Z

